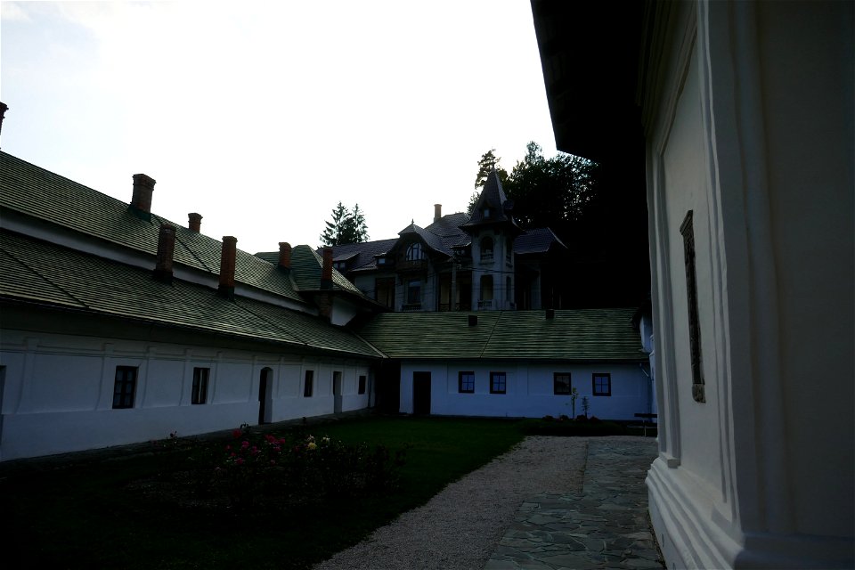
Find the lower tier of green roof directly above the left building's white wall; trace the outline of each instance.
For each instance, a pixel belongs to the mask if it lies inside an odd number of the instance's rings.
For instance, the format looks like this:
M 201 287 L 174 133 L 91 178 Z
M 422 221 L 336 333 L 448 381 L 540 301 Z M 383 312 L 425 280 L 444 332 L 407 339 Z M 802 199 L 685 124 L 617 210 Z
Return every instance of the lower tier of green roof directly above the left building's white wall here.
M 228 301 L 186 281 L 17 233 L 0 231 L 0 297 L 361 356 L 361 338 L 309 314 L 247 298 Z

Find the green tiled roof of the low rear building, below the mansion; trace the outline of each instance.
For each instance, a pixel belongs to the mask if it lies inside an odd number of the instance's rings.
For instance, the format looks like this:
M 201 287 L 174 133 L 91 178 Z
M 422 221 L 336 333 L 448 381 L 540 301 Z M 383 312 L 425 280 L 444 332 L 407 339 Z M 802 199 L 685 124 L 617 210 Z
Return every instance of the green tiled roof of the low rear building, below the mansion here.
M 359 334 L 392 358 L 640 362 L 634 308 L 379 314 Z M 469 315 L 477 324 L 468 325 Z

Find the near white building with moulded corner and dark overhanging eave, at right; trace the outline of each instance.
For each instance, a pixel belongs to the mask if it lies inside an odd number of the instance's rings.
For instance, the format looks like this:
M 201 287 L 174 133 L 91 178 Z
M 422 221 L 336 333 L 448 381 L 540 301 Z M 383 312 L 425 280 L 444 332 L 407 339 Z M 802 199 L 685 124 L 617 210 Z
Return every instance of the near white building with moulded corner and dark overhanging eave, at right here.
M 532 4 L 558 148 L 646 180 L 667 566 L 855 566 L 853 4 Z

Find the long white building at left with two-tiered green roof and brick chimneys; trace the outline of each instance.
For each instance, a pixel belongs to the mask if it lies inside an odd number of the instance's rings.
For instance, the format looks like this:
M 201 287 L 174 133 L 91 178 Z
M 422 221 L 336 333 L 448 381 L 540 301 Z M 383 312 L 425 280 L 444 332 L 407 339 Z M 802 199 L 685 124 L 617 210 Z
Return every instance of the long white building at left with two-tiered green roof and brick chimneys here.
M 128 205 L 0 171 L 0 460 L 371 405 L 382 354 L 336 324 L 376 304 L 331 257 L 282 244 L 276 266 L 170 224 L 145 175 Z

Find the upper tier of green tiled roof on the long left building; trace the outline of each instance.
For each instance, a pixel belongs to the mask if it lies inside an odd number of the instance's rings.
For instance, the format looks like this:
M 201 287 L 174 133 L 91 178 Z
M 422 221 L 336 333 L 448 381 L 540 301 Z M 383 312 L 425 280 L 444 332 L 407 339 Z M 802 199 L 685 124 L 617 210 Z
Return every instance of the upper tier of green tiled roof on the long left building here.
M 151 254 L 158 249 L 160 224 L 175 226 L 175 263 L 214 273 L 220 271 L 222 243 L 151 215 L 134 216 L 128 205 L 83 184 L 0 152 L 0 206 L 71 230 Z M 131 185 L 128 184 L 130 195 Z M 156 196 L 155 196 L 156 197 Z M 240 242 L 239 242 L 240 243 Z M 264 260 L 238 249 L 235 281 L 303 302 L 293 281 Z

